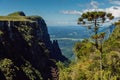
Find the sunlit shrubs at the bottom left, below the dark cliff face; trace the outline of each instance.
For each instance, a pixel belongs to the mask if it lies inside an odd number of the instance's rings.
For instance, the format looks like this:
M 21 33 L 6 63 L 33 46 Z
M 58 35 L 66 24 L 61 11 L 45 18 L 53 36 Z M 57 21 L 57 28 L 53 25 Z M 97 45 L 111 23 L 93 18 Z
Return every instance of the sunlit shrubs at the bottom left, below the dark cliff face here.
M 16 80 L 18 71 L 23 71 L 29 80 L 43 80 L 41 73 L 35 69 L 30 62 L 26 61 L 21 67 L 17 67 L 11 59 L 4 58 L 0 60 L 0 71 L 4 74 L 6 80 Z

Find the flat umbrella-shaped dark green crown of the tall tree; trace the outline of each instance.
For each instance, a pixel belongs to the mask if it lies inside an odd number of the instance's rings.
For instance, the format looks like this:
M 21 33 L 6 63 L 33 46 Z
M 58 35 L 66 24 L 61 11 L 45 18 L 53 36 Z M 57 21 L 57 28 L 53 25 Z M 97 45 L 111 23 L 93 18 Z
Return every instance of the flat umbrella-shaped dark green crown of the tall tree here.
M 86 12 L 83 13 L 82 16 L 78 19 L 78 23 L 80 24 L 85 24 L 86 19 L 87 21 L 100 21 L 104 22 L 106 20 L 106 18 L 109 18 L 110 20 L 112 20 L 114 18 L 114 16 L 112 16 L 111 13 L 106 14 L 106 12 L 102 12 L 102 11 L 92 11 L 92 12 Z M 85 22 L 84 22 L 85 21 Z M 97 23 L 97 22 L 96 22 Z M 87 23 L 86 23 L 87 24 Z

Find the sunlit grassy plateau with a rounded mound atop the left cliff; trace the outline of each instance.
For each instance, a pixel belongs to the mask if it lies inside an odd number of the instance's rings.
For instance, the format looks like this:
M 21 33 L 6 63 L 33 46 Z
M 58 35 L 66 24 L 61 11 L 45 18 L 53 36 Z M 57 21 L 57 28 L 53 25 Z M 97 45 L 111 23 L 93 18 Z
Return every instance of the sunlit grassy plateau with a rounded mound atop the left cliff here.
M 40 16 L 25 16 L 24 12 L 14 12 L 7 16 L 0 16 L 0 21 L 30 21 L 34 22 L 37 19 L 42 19 Z

